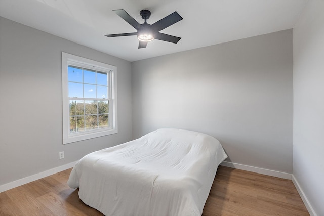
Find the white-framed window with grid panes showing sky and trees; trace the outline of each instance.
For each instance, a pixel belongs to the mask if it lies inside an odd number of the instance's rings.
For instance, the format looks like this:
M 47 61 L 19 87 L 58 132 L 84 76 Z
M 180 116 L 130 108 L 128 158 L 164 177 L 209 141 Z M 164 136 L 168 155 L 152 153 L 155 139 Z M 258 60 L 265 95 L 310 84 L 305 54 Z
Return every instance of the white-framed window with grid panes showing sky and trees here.
M 117 133 L 116 69 L 62 53 L 63 144 Z

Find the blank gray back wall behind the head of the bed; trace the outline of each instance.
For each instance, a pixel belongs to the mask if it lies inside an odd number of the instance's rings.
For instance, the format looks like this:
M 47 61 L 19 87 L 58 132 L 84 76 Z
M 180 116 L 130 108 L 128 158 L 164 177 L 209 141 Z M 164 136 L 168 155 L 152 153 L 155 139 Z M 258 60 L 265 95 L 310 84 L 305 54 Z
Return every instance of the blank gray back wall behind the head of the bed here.
M 210 134 L 227 161 L 292 173 L 293 31 L 132 62 L 133 139 Z

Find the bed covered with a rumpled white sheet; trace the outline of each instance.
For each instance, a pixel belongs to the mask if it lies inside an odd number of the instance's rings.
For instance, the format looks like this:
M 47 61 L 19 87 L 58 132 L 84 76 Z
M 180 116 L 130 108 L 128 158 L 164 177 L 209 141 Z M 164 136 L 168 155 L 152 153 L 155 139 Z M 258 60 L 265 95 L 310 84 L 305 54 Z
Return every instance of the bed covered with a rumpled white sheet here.
M 67 184 L 108 216 L 201 215 L 218 165 L 227 158 L 205 134 L 158 129 L 84 156 Z

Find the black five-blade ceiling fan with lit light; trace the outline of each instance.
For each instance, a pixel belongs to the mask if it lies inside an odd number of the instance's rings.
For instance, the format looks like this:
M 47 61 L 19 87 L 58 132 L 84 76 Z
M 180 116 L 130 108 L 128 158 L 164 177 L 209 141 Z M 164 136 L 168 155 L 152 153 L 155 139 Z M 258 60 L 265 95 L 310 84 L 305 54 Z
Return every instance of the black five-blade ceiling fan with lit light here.
M 123 18 L 126 22 L 128 22 L 131 26 L 133 26 L 137 30 L 137 32 L 121 33 L 121 34 L 106 34 L 105 36 L 107 37 L 137 35 L 137 38 L 139 39 L 139 45 L 138 45 L 139 49 L 145 48 L 147 43 L 149 41 L 152 41 L 153 39 L 164 40 L 167 42 L 172 42 L 174 44 L 177 44 L 177 42 L 181 39 L 181 37 L 176 37 L 176 36 L 159 32 L 183 19 L 176 11 L 151 25 L 146 22 L 146 20 L 151 16 L 151 12 L 148 10 L 140 11 L 140 15 L 144 19 L 143 24 L 139 24 L 133 17 L 131 17 L 123 9 L 113 10 L 113 11 L 119 17 Z

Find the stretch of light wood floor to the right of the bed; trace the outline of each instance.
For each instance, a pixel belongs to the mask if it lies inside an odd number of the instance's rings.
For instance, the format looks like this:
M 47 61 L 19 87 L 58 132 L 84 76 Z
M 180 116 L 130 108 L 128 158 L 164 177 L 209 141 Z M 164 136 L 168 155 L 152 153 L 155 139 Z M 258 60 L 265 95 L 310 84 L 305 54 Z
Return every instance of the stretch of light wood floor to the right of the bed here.
M 291 180 L 219 166 L 203 215 L 309 213 Z

